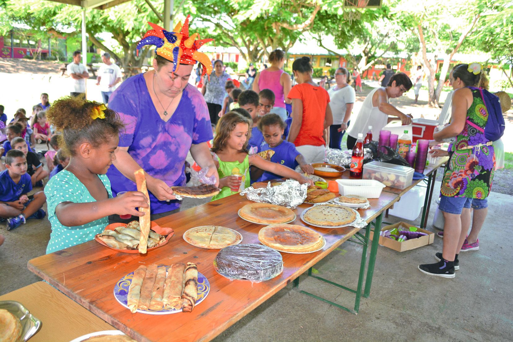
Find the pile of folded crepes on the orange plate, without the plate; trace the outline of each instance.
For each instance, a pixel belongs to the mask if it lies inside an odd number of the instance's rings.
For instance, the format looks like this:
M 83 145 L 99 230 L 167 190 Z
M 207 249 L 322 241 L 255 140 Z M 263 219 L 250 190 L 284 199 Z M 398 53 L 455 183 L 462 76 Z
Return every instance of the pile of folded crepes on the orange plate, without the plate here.
M 118 250 L 136 250 L 139 248 L 141 239 L 141 225 L 139 221 L 132 221 L 126 226 L 117 227 L 113 231 L 106 229 L 102 234 L 98 234 L 96 237 L 111 248 Z M 165 236 L 150 230 L 148 248 L 158 246 L 165 240 Z

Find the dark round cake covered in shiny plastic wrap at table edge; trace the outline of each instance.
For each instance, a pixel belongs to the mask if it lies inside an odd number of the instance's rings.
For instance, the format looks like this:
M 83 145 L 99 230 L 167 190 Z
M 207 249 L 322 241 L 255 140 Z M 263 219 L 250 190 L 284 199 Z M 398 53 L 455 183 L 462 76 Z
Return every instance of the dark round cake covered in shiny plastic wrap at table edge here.
M 260 282 L 283 272 L 283 258 L 280 252 L 261 244 L 236 244 L 219 251 L 214 269 L 231 280 Z

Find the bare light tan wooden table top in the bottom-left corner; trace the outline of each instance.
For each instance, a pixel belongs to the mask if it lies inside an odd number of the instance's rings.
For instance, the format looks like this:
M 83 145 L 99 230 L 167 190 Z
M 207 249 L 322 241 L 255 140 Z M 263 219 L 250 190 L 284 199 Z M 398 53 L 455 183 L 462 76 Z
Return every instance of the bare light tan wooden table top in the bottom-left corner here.
M 0 296 L 15 300 L 41 320 L 41 329 L 30 342 L 69 342 L 95 331 L 116 330 L 44 281 Z

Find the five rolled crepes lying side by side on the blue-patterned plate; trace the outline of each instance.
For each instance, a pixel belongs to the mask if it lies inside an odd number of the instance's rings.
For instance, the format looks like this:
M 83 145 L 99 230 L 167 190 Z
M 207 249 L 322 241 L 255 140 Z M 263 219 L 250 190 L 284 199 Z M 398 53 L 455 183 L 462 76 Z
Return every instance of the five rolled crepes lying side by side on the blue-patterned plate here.
M 132 313 L 139 310 L 182 309 L 191 312 L 198 298 L 198 268 L 192 262 L 166 267 L 141 265 L 133 273 L 128 288 L 127 305 Z

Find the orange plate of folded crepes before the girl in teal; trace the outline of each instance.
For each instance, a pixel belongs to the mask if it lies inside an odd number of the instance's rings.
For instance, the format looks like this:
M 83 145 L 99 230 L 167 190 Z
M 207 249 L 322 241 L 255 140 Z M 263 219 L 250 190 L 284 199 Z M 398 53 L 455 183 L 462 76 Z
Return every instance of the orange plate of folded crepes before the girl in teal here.
M 148 251 L 165 245 L 174 231 L 171 228 L 161 227 L 155 222 L 150 222 L 150 233 L 148 236 Z M 139 253 L 139 241 L 141 227 L 139 221 L 126 223 L 111 223 L 104 231 L 97 234 L 94 239 L 104 246 L 122 253 Z

